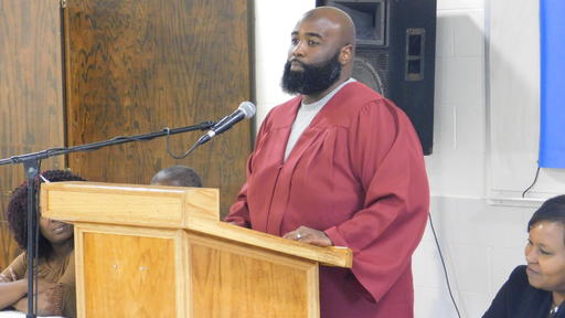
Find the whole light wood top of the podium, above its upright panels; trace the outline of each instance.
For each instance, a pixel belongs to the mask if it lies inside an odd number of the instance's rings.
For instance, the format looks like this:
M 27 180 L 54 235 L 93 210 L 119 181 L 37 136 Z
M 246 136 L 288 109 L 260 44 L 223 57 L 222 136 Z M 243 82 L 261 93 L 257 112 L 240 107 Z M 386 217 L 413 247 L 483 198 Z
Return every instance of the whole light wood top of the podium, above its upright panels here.
M 347 247 L 318 247 L 221 222 L 218 189 L 52 182 L 42 183 L 40 202 L 43 216 L 71 223 L 186 230 L 323 265 L 353 262 Z

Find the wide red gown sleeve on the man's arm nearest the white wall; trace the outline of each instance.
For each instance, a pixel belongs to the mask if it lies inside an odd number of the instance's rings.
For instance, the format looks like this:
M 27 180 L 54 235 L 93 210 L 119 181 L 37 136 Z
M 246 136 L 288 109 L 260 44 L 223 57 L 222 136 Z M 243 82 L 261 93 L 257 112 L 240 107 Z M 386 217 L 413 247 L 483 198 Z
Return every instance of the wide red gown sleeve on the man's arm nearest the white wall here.
M 366 104 L 352 123 L 351 167 L 365 192 L 362 209 L 326 230 L 353 250 L 355 278 L 379 300 L 411 265 L 424 233 L 429 190 L 416 134 L 385 99 Z

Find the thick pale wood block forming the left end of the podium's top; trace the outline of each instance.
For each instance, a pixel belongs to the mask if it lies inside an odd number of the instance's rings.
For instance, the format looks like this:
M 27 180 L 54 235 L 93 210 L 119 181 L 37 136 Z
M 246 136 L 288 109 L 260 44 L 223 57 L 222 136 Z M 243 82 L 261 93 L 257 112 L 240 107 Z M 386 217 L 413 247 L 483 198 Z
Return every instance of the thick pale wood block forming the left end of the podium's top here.
M 188 227 L 190 218 L 218 221 L 218 191 L 99 182 L 53 182 L 41 188 L 43 215 L 152 227 Z

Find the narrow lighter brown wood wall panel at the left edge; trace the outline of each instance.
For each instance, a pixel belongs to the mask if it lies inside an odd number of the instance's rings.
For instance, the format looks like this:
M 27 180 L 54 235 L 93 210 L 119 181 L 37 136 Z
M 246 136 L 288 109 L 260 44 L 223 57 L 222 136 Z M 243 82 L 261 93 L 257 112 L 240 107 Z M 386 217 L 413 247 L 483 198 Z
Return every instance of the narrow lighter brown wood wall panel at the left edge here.
M 0 158 L 64 146 L 58 0 L 0 0 Z M 63 157 L 43 170 L 64 168 Z M 18 251 L 4 210 L 23 166 L 0 167 L 0 268 Z

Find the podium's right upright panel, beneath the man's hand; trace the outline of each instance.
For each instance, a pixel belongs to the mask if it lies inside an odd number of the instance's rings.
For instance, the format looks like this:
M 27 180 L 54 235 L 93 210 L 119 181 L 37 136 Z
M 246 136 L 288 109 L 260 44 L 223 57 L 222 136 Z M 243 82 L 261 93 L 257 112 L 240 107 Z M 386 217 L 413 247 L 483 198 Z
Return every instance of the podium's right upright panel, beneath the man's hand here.
M 316 263 L 189 237 L 193 317 L 319 317 Z

